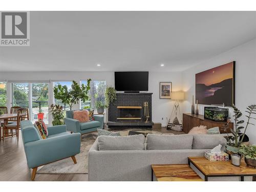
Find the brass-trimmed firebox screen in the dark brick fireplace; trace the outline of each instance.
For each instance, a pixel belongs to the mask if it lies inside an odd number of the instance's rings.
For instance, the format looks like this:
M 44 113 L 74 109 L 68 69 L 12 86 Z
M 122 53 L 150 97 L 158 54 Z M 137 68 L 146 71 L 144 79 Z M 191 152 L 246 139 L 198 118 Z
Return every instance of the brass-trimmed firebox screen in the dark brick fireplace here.
M 141 119 L 141 106 L 117 106 L 117 119 Z

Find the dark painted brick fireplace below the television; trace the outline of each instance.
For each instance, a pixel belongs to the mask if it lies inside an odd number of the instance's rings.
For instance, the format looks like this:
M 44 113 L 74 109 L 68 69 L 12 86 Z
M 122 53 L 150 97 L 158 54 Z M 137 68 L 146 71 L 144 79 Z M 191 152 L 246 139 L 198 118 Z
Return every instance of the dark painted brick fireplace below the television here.
M 140 127 L 152 128 L 152 93 L 117 93 L 108 111 L 110 128 Z M 144 102 L 148 102 L 148 122 L 144 115 Z

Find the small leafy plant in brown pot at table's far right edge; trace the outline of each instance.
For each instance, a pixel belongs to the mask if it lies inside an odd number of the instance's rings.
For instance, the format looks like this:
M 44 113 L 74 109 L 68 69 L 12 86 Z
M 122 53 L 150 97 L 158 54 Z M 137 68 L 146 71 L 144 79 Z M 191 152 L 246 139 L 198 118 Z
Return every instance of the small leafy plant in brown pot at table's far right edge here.
M 239 153 L 244 156 L 245 163 L 256 167 L 256 145 L 242 145 Z

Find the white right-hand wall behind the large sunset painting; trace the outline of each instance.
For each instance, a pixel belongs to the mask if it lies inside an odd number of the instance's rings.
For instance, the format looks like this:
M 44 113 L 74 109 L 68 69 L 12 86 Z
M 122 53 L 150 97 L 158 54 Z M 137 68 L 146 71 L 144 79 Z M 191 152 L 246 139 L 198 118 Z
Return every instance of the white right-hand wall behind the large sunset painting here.
M 198 66 L 183 72 L 183 90 L 186 91 L 186 101 L 183 102 L 183 112 L 190 113 L 192 95 L 195 95 L 195 74 L 211 69 L 230 61 L 236 61 L 236 106 L 242 112 L 246 106 L 256 103 L 256 39 L 235 47 L 214 58 L 200 63 Z M 230 109 L 232 113 L 232 109 Z M 204 113 L 204 105 L 199 105 L 199 113 Z M 245 113 L 243 113 L 245 114 Z M 243 116 L 241 119 L 245 119 Z M 256 121 L 254 121 L 256 124 Z M 256 144 L 256 127 L 248 127 L 246 134 L 250 142 Z

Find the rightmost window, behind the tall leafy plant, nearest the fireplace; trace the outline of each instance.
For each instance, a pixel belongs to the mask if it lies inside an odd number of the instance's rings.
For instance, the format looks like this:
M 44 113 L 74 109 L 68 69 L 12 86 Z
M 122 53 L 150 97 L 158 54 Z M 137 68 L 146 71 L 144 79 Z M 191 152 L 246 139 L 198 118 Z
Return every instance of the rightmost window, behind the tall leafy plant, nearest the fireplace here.
M 81 84 L 87 84 L 87 81 L 81 81 Z M 106 81 L 105 80 L 92 80 L 90 83 L 89 100 L 81 102 L 81 109 L 95 109 L 95 102 L 105 102 Z

